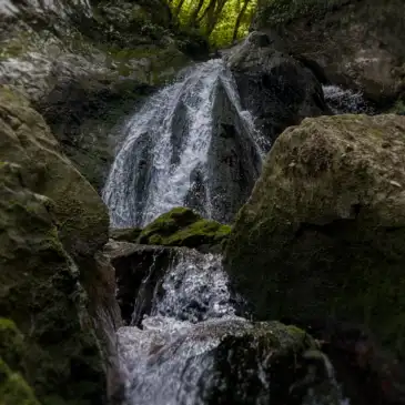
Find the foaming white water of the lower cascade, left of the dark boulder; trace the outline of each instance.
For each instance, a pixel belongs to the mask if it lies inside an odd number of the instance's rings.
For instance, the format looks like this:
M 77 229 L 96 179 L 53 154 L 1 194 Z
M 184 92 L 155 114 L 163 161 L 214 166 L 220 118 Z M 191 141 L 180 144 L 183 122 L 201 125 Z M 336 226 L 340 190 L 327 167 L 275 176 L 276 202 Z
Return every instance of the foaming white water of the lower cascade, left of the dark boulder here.
M 210 352 L 224 333 L 252 327 L 234 315 L 227 284 L 220 255 L 179 251 L 142 327 L 118 332 L 129 405 L 204 404 L 199 382 L 213 367 Z

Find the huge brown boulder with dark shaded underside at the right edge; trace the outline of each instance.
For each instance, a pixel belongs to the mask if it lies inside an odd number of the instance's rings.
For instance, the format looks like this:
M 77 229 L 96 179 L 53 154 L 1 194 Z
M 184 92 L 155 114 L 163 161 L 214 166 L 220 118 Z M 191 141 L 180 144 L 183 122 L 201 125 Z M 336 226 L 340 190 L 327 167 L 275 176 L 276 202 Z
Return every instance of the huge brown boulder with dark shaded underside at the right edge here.
M 287 129 L 225 253 L 256 316 L 348 323 L 391 352 L 384 362 L 372 360 L 378 350 L 362 357 L 394 382 L 404 377 L 395 364 L 405 353 L 404 152 L 399 115 L 323 117 Z

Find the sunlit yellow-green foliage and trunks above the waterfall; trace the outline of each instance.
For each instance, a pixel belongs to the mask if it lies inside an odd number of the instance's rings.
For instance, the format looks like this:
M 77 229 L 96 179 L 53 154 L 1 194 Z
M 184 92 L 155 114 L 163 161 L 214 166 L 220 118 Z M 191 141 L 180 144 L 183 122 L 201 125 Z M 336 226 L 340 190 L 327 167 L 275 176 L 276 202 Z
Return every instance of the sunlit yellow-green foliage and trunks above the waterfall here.
M 257 0 L 169 0 L 183 28 L 198 29 L 213 47 L 246 36 Z

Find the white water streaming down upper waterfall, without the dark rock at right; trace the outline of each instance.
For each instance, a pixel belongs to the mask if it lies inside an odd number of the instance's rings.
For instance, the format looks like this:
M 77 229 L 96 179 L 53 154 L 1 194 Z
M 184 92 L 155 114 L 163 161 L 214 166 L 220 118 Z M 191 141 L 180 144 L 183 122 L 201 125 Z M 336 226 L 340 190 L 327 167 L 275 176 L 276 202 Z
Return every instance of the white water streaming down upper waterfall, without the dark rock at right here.
M 207 164 L 220 84 L 260 154 L 253 120 L 242 111 L 224 63 L 211 60 L 193 67 L 153 95 L 128 123 L 126 139 L 103 191 L 112 226 L 144 225 L 174 206 L 185 205 L 195 171 L 206 185 L 203 214 L 212 217 L 215 195 L 211 195 Z

